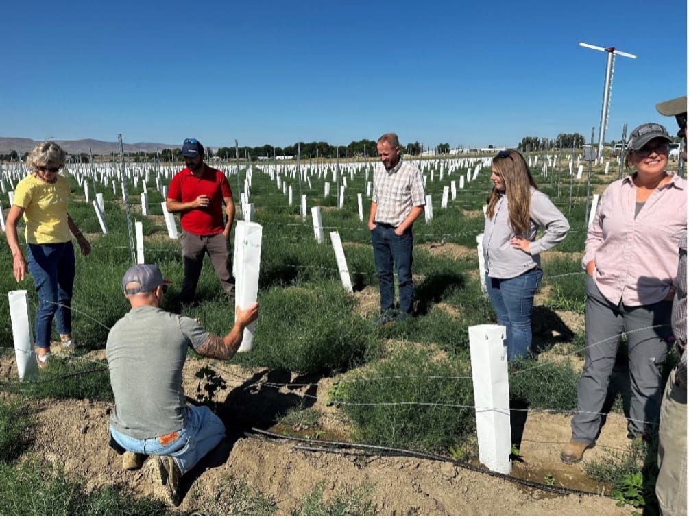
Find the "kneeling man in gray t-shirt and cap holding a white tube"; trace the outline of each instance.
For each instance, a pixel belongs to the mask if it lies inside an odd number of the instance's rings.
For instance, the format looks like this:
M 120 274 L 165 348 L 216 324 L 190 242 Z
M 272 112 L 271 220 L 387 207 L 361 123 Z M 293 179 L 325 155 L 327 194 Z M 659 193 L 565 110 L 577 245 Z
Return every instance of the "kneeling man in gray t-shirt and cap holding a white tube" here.
M 258 303 L 237 307 L 234 327 L 220 337 L 161 308 L 167 283 L 156 265 L 127 270 L 122 289 L 132 309 L 110 330 L 105 354 L 115 396 L 111 443 L 124 452 L 125 469 L 138 469 L 143 455 L 150 455 L 156 496 L 176 506 L 181 476 L 225 437 L 225 425 L 208 407 L 187 406 L 182 387 L 187 348 L 229 360 L 245 327 L 258 317 Z

